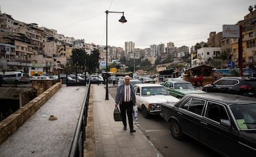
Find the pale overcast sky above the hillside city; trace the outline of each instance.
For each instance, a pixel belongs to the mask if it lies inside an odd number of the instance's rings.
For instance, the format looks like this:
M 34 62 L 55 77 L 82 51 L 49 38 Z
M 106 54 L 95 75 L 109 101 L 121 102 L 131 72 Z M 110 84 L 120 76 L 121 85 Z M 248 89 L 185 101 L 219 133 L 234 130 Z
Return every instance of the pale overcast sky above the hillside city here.
M 207 42 L 210 32 L 222 32 L 222 25 L 234 25 L 249 14 L 253 0 L 1 0 L 1 11 L 25 23 L 57 30 L 85 43 L 106 45 L 105 11 L 108 14 L 108 45 L 135 48 L 174 42 L 192 46 Z

